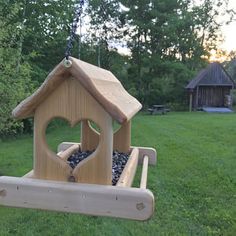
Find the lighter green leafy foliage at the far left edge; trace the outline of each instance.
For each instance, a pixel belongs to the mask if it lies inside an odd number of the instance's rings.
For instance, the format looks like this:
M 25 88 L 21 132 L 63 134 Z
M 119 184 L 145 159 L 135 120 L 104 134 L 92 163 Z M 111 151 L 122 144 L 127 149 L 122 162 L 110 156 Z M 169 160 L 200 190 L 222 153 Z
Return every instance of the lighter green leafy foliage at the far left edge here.
M 0 6 L 1 12 L 5 7 L 4 4 Z M 11 118 L 11 111 L 32 91 L 31 68 L 27 62 L 19 62 L 16 41 L 19 37 L 18 23 L 12 24 L 18 14 L 19 5 L 14 4 L 8 10 L 7 17 L 0 16 L 0 137 L 22 131 L 22 124 Z

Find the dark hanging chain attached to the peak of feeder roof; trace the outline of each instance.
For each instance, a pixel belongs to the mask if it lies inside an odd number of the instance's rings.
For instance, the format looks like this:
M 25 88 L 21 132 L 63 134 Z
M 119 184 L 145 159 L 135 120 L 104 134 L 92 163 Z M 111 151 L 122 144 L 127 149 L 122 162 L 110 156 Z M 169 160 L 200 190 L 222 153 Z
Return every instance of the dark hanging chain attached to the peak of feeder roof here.
M 71 25 L 70 37 L 67 42 L 66 52 L 65 52 L 64 65 L 66 67 L 71 66 L 71 61 L 69 60 L 69 56 L 71 55 L 71 49 L 73 48 L 73 42 L 76 38 L 76 30 L 77 30 L 78 23 L 80 21 L 81 15 L 82 15 L 83 6 L 84 6 L 84 0 L 80 0 L 79 6 L 76 6 L 76 8 L 75 8 L 75 18 L 74 18 L 73 23 Z

